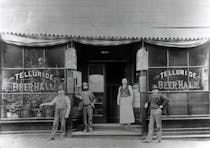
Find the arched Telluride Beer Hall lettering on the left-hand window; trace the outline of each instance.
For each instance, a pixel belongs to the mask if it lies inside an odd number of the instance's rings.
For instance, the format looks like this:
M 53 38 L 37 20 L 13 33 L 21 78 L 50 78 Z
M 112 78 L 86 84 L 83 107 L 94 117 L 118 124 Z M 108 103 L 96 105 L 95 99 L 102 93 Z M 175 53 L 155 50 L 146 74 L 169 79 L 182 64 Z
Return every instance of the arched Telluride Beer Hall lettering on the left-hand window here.
M 56 88 L 57 82 L 53 74 L 44 71 L 26 71 L 14 74 L 4 89 L 12 92 L 40 92 L 55 91 Z

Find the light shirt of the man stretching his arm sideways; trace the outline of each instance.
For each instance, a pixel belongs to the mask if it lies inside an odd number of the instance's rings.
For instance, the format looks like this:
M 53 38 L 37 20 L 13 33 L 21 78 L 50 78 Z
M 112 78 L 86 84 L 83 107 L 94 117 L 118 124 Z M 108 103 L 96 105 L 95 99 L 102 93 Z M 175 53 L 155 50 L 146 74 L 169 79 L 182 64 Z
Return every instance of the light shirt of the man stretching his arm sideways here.
M 68 106 L 70 106 L 70 100 L 69 97 L 63 95 L 63 96 L 56 96 L 53 101 L 53 104 L 55 104 L 56 109 L 66 109 Z

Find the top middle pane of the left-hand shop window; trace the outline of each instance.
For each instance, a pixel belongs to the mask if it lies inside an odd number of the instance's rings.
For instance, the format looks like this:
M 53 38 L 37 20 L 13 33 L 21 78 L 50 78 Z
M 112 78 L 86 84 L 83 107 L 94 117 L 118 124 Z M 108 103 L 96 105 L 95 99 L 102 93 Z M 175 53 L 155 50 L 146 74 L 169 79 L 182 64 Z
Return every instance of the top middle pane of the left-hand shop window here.
M 44 50 L 41 48 L 25 49 L 24 67 L 43 68 L 45 67 Z

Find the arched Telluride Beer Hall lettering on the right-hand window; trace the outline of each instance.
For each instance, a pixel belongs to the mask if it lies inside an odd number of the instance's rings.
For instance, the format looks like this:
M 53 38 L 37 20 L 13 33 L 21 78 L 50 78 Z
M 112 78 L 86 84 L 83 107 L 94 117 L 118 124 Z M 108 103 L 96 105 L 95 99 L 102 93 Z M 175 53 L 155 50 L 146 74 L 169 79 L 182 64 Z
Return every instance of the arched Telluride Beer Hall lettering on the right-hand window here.
M 208 72 L 187 69 L 171 69 L 160 72 L 153 79 L 160 90 L 206 90 L 208 89 Z

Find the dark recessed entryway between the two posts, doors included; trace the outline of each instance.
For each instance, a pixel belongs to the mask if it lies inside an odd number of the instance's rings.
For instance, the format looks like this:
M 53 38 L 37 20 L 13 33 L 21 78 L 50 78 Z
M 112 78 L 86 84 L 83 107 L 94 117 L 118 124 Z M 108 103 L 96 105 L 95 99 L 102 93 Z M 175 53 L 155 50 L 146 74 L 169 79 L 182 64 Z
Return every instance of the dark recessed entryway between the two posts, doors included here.
M 93 46 L 76 43 L 78 71 L 96 97 L 94 123 L 118 123 L 117 93 L 122 78 L 135 81 L 139 44 Z

